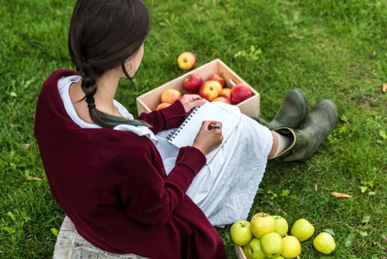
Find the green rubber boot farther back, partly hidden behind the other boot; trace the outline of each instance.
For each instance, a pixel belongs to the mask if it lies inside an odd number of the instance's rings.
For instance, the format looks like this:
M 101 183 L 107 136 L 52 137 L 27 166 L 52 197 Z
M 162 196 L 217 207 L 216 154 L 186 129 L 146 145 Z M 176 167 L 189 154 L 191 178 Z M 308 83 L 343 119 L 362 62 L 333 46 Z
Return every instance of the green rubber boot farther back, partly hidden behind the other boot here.
M 271 122 L 262 118 L 252 118 L 270 130 L 288 127 L 297 128 L 308 112 L 308 101 L 305 94 L 298 88 L 286 94 L 281 103 L 280 109 Z

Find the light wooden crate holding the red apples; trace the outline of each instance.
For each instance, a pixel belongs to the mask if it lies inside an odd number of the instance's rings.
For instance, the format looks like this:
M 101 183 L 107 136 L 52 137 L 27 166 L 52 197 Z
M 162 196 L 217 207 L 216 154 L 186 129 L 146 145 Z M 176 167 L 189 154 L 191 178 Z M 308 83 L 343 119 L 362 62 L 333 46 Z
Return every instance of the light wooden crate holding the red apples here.
M 213 60 L 195 70 L 189 71 L 184 75 L 177 77 L 149 92 L 146 92 L 136 98 L 137 110 L 139 115 L 141 113 L 149 113 L 152 109 L 155 109 L 160 103 L 161 93 L 168 88 L 176 89 L 181 94 L 187 93 L 183 88 L 183 80 L 189 74 L 198 74 L 204 81 L 206 81 L 211 74 L 218 73 L 225 80 L 225 86 L 231 88 L 233 85 L 238 83 L 247 84 L 242 78 L 240 78 L 232 69 L 224 64 L 220 59 Z M 250 86 L 250 85 L 249 85 Z M 260 94 L 253 89 L 251 86 L 252 96 L 237 104 L 240 111 L 251 117 L 260 116 Z

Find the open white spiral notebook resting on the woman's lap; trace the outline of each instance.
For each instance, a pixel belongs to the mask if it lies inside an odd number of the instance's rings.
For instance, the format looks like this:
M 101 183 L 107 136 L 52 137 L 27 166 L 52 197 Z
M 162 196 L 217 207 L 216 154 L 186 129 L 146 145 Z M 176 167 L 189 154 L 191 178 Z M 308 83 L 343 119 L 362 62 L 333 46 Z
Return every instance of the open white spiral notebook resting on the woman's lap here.
M 167 140 L 177 146 L 191 146 L 198 134 L 203 121 L 220 121 L 222 123 L 223 142 L 206 155 L 207 164 L 216 156 L 219 149 L 230 137 L 240 118 L 223 109 L 214 102 L 207 101 L 204 105 L 193 109 L 186 117 L 184 122 L 174 129 L 167 137 Z

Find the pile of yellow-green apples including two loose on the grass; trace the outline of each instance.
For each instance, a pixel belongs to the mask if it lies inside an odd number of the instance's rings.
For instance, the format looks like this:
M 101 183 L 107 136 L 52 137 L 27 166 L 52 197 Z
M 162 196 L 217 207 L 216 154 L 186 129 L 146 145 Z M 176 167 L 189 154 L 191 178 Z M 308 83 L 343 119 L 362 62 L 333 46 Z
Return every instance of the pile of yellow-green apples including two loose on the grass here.
M 301 253 L 300 242 L 311 238 L 313 225 L 306 219 L 294 222 L 290 234 L 288 222 L 281 216 L 264 213 L 255 214 L 250 221 L 239 220 L 230 229 L 231 239 L 242 246 L 247 259 L 290 259 Z M 314 248 L 324 254 L 330 254 L 336 248 L 331 234 L 319 233 L 313 239 Z

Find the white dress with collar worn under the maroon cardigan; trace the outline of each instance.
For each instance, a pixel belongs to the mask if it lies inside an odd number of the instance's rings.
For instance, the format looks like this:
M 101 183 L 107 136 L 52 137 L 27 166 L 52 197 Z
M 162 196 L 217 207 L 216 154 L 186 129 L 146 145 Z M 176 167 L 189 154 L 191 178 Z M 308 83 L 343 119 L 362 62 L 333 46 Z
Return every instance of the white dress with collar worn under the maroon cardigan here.
M 58 90 L 64 108 L 70 118 L 82 128 L 100 128 L 83 121 L 75 111 L 69 88 L 80 76 L 63 77 L 58 81 Z M 114 105 L 123 117 L 133 119 L 119 102 Z M 273 144 L 270 130 L 241 114 L 236 106 L 219 103 L 241 118 L 239 125 L 223 144 L 210 164 L 206 164 L 193 179 L 186 194 L 202 209 L 214 226 L 223 227 L 237 220 L 245 220 L 250 211 L 256 191 L 265 172 L 267 157 Z M 178 147 L 170 144 L 166 137 L 171 130 L 154 135 L 145 126 L 118 125 L 116 130 L 134 132 L 148 137 L 161 154 L 167 174 L 175 165 Z

